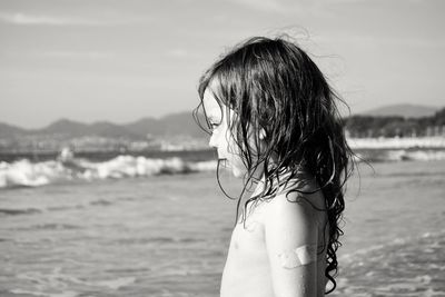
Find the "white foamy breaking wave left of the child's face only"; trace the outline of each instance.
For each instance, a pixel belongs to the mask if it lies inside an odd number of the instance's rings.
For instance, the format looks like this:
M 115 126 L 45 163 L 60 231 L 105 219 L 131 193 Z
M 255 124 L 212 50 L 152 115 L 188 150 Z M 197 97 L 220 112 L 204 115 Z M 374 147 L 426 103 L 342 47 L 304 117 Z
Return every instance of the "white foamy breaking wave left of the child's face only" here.
M 51 160 L 36 164 L 22 159 L 11 164 L 0 162 L 0 188 L 38 187 L 70 179 L 95 180 L 188 174 L 211 171 L 215 168 L 216 161 L 186 162 L 177 157 L 151 159 L 141 156 L 118 156 L 103 162 L 71 159 L 69 161 Z

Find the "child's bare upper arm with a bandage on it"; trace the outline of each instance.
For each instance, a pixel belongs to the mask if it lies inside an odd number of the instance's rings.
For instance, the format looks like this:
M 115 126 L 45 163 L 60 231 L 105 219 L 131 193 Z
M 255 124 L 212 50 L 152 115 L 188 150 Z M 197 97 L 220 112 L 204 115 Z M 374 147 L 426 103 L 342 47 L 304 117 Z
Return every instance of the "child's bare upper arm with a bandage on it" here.
M 265 238 L 275 297 L 316 296 L 318 236 L 309 204 L 304 199 L 289 201 L 285 195 L 269 204 Z

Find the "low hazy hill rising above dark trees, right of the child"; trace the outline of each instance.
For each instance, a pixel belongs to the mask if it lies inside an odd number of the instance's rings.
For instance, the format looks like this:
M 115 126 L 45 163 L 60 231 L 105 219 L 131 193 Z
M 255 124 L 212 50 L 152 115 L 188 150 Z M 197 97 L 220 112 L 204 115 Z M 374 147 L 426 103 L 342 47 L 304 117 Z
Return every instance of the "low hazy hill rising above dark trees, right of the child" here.
M 399 116 L 404 118 L 422 118 L 422 117 L 431 117 L 438 110 L 439 108 L 429 106 L 390 105 L 372 109 L 365 112 L 360 112 L 359 115 L 374 116 L 374 117 Z

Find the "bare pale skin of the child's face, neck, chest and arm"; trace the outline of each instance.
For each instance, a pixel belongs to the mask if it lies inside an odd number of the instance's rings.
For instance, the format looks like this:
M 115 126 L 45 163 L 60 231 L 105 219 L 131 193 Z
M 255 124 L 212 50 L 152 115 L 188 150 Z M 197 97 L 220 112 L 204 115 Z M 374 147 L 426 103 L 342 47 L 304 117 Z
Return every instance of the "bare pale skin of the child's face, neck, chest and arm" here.
M 246 168 L 228 133 L 227 108 L 221 108 L 209 90 L 206 90 L 202 103 L 212 125 L 209 146 L 217 149 L 218 158 L 227 160 L 236 177 L 243 177 Z M 317 185 L 309 176 L 301 174 L 301 179 L 305 185 L 298 186 L 300 190 L 316 189 Z M 240 216 L 231 235 L 221 297 L 324 296 L 325 250 L 307 265 L 284 265 L 281 259 L 283 255 L 293 255 L 293 250 L 301 246 L 319 246 L 322 250 L 327 241 L 326 212 L 313 207 L 324 208 L 323 194 L 289 192 L 297 184 L 289 182 L 286 188 L 280 188 L 270 200 L 247 206 L 246 221 L 241 221 Z M 253 195 L 260 192 L 263 185 L 259 181 Z

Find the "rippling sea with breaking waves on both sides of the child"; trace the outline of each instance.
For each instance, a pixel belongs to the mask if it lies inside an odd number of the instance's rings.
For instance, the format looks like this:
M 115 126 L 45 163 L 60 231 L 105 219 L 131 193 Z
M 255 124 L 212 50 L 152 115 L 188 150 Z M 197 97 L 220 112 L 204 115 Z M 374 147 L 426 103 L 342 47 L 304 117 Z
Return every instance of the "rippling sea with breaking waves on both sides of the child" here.
M 332 296 L 445 296 L 441 154 L 358 162 Z M 0 296 L 219 296 L 236 201 L 212 157 L 1 161 Z

